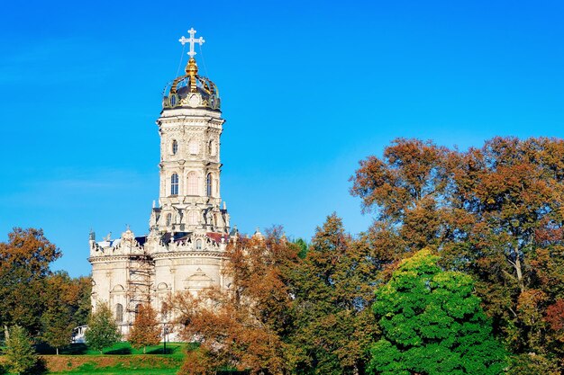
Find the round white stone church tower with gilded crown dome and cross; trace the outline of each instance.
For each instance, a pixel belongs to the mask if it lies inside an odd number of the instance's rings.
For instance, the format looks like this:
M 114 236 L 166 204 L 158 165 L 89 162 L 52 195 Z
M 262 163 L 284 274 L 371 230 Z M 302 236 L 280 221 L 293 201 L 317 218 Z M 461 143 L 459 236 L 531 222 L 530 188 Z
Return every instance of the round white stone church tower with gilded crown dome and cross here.
M 157 124 L 160 135 L 159 208 L 153 209 L 151 230 L 159 232 L 228 233 L 229 215 L 220 194 L 221 117 L 217 86 L 198 75 L 190 38 L 186 74 L 165 88 Z

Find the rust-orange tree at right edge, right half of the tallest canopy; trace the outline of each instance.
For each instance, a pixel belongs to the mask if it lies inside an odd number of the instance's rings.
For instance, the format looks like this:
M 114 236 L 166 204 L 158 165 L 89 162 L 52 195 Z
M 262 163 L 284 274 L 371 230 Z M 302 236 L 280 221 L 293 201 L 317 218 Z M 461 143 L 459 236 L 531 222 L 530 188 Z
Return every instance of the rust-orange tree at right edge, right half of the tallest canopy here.
M 493 138 L 452 169 L 452 204 L 469 216 L 445 258 L 476 277 L 515 353 L 548 352 L 542 316 L 564 292 L 562 155 L 561 139 Z

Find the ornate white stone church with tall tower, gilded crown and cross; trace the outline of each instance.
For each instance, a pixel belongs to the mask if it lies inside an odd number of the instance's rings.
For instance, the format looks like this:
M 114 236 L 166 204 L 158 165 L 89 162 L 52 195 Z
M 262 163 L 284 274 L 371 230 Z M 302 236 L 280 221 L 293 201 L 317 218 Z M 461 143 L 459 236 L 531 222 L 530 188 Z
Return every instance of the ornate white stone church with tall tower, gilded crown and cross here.
M 194 46 L 205 40 L 188 33 L 179 40 L 189 45 L 186 74 L 165 88 L 156 121 L 159 204 L 153 202 L 149 234 L 136 237 L 127 228 L 119 238 L 96 241 L 90 233 L 92 306 L 107 303 L 123 335 L 141 304 L 161 311 L 171 293 L 227 288 L 223 254 L 238 233 L 220 193 L 221 99 L 214 82 L 198 74 Z

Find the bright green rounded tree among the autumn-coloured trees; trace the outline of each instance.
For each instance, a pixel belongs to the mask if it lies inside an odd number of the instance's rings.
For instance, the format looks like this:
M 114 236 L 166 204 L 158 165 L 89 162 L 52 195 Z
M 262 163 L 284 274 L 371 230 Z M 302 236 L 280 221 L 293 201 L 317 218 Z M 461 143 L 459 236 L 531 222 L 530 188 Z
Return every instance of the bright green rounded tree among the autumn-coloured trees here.
M 472 279 L 442 271 L 423 249 L 400 263 L 376 291 L 373 310 L 382 338 L 371 348 L 369 373 L 500 374 L 505 350 L 472 294 Z

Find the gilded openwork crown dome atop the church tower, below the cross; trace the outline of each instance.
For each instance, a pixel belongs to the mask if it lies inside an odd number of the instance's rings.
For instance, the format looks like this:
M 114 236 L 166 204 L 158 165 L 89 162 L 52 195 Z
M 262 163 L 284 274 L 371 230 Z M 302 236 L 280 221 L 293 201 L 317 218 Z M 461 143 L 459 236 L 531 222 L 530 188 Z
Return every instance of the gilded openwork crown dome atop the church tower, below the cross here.
M 220 109 L 217 86 L 207 77 L 198 76 L 198 66 L 194 58 L 188 60 L 186 75 L 178 76 L 164 89 L 162 108 L 206 108 Z

